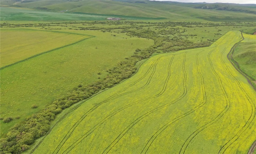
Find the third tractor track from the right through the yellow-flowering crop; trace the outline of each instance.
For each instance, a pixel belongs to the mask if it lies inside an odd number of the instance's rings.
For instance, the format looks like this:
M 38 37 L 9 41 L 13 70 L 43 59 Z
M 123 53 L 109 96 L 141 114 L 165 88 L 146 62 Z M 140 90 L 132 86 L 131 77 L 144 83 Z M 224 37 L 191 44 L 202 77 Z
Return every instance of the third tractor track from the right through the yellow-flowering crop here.
M 200 107 L 202 107 L 203 105 L 206 104 L 206 100 L 207 100 L 207 97 L 206 97 L 206 92 L 205 92 L 205 85 L 204 85 L 204 78 L 200 72 L 200 69 L 199 69 L 199 61 L 198 61 L 198 55 L 200 54 L 201 52 L 198 52 L 196 54 L 196 65 L 197 65 L 197 71 L 198 71 L 198 74 L 200 75 L 200 78 L 201 78 L 201 89 L 202 89 L 202 93 L 203 93 L 203 101 L 197 105 L 196 107 L 194 107 L 193 109 L 189 110 L 188 112 L 182 114 L 181 116 L 179 117 L 176 117 L 174 118 L 173 120 L 171 120 L 170 122 L 166 123 L 164 126 L 162 126 L 156 133 L 153 134 L 153 136 L 150 138 L 150 140 L 147 142 L 146 146 L 143 148 L 143 150 L 141 151 L 141 154 L 142 153 L 147 153 L 147 151 L 149 150 L 151 144 L 155 141 L 155 139 L 165 130 L 167 129 L 171 124 L 173 124 L 174 122 L 177 122 L 179 121 L 180 119 L 188 116 L 189 114 L 193 113 L 195 110 L 199 109 Z

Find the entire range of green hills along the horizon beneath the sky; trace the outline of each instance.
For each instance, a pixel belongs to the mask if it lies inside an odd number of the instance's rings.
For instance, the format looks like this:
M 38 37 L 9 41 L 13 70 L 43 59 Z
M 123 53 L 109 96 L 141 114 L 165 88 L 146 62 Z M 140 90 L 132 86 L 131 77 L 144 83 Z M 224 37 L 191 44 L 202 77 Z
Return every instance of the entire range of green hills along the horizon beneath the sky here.
M 161 17 L 176 21 L 256 21 L 256 5 L 226 3 L 149 0 L 1 0 L 1 6 L 63 13 Z

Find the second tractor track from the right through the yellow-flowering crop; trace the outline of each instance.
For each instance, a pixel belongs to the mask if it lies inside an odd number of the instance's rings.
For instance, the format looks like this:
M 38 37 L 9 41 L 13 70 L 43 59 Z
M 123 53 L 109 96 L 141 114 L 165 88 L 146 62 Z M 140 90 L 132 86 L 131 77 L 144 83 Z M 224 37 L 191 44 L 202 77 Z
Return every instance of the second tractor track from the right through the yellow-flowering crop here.
M 186 139 L 185 143 L 182 145 L 182 148 L 181 148 L 181 150 L 180 150 L 180 152 L 179 152 L 180 154 L 181 154 L 181 153 L 183 153 L 183 154 L 185 153 L 185 151 L 186 151 L 186 149 L 187 149 L 189 143 L 196 137 L 197 134 L 199 134 L 201 131 L 203 131 L 203 130 L 206 129 L 207 127 L 211 126 L 212 124 L 216 123 L 216 122 L 228 111 L 228 109 L 229 109 L 229 107 L 230 107 L 230 100 L 229 100 L 229 98 L 228 98 L 227 92 L 226 92 L 226 90 L 225 90 L 224 87 L 223 87 L 221 78 L 220 78 L 219 75 L 216 73 L 216 71 L 215 71 L 215 69 L 214 69 L 214 67 L 213 67 L 212 60 L 210 59 L 211 53 L 212 53 L 217 47 L 218 47 L 218 46 L 216 46 L 211 52 L 209 52 L 207 58 L 208 58 L 208 60 L 209 60 L 209 62 L 210 62 L 211 69 L 212 69 L 214 75 L 218 78 L 219 85 L 220 85 L 221 90 L 222 90 L 222 92 L 223 92 L 223 94 L 224 94 L 224 96 L 225 96 L 226 107 L 218 114 L 217 117 L 215 117 L 212 121 L 210 121 L 210 122 L 204 124 L 203 126 L 201 126 L 199 129 L 197 129 L 196 131 L 194 131 L 194 132 Z

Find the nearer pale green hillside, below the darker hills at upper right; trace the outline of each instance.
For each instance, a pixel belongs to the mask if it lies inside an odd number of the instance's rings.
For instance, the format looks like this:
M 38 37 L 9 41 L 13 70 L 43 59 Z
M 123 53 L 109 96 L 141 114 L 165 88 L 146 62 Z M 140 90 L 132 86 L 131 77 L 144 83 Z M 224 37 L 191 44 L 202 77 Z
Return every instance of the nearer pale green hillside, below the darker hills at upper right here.
M 146 1 L 143 3 L 126 3 L 110 0 L 82 1 L 32 1 L 13 5 L 15 7 L 41 9 L 47 11 L 68 10 L 67 12 L 84 12 L 98 14 L 128 15 L 140 17 L 165 17 L 172 20 L 210 20 L 210 21 L 253 21 L 255 14 L 231 11 L 205 10 L 177 6 L 162 2 Z M 185 4 L 184 4 L 185 5 Z M 186 5 L 185 5 L 186 6 Z M 252 8 L 253 9 L 253 8 Z

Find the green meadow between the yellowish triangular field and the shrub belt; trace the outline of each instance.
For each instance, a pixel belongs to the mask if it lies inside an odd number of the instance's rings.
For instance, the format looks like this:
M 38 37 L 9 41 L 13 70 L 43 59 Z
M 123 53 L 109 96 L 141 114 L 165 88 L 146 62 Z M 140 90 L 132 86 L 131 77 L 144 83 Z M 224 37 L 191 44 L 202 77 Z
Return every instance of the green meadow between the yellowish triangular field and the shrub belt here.
M 152 40 L 125 34 L 92 30 L 79 33 L 96 37 L 1 70 L 1 117 L 20 117 L 7 124 L 1 121 L 1 135 L 67 90 L 103 78 L 107 68 L 131 56 L 135 49 L 153 45 Z M 102 74 L 97 75 L 98 72 Z M 32 104 L 39 107 L 32 109 Z

